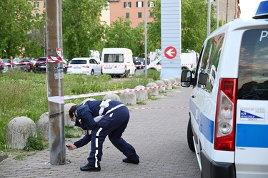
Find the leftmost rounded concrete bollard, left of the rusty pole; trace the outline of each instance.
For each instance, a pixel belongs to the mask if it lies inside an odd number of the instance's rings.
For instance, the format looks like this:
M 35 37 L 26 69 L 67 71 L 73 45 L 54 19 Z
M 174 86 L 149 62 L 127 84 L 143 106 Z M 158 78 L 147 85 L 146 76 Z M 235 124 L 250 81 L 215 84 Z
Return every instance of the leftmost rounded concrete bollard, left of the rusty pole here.
M 15 117 L 7 125 L 6 145 L 11 149 L 23 149 L 30 135 L 36 135 L 36 125 L 29 117 Z

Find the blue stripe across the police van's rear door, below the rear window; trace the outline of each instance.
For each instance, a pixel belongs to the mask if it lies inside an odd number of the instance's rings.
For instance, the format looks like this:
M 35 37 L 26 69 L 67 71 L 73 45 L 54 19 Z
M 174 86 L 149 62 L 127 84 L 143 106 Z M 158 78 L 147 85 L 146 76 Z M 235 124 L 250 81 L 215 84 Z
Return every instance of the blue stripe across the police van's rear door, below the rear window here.
M 268 148 L 268 125 L 237 124 L 236 146 Z

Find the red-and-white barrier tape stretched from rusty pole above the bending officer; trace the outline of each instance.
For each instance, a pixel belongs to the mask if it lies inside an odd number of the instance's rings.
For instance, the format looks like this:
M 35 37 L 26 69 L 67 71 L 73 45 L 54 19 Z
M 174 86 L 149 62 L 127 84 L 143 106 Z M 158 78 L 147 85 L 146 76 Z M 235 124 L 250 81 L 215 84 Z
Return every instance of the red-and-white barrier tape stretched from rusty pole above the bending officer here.
M 147 87 L 147 88 L 135 88 L 135 89 L 125 89 L 125 90 L 116 90 L 116 91 L 106 91 L 106 92 L 88 93 L 88 94 L 81 94 L 81 95 L 51 96 L 51 97 L 48 97 L 48 100 L 52 103 L 63 104 L 64 100 L 69 100 L 69 99 L 86 98 L 86 97 L 91 97 L 91 96 L 116 94 L 116 93 L 129 93 L 129 92 L 137 92 L 137 91 L 142 91 L 142 90 L 152 90 L 155 88 L 162 88 L 162 87 L 168 87 L 168 86 L 179 85 L 179 84 L 180 83 L 174 83 L 171 85 L 157 85 L 154 87 Z

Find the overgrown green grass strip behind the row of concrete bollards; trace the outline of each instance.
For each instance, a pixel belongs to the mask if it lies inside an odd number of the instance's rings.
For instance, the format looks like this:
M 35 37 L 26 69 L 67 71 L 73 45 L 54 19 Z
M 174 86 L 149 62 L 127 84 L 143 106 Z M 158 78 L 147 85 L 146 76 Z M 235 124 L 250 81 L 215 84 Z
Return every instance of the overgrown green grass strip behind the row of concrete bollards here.
M 112 79 L 110 75 L 65 75 L 64 95 L 79 95 L 113 90 L 135 88 L 137 85 L 159 80 L 160 73 L 148 73 L 130 78 Z M 158 76 L 158 77 L 157 77 Z M 19 116 L 31 118 L 35 123 L 49 111 L 46 93 L 46 74 L 21 73 L 19 71 L 0 74 L 0 150 L 6 150 L 6 126 Z M 94 96 L 96 100 L 104 98 Z M 65 100 L 64 103 L 81 103 L 85 98 Z M 31 139 L 34 141 L 34 139 Z M 35 140 L 37 142 L 37 140 Z M 30 144 L 30 143 L 29 143 Z M 30 144 L 31 145 L 31 144 Z M 29 149 L 32 146 L 28 146 Z

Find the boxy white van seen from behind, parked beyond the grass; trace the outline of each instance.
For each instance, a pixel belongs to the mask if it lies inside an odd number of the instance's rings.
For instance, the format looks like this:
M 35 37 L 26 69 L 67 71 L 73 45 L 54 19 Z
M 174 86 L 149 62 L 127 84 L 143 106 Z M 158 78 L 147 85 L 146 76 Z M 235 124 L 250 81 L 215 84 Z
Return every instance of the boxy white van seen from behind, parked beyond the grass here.
M 104 48 L 101 54 L 102 73 L 112 76 L 134 75 L 136 67 L 128 48 Z

